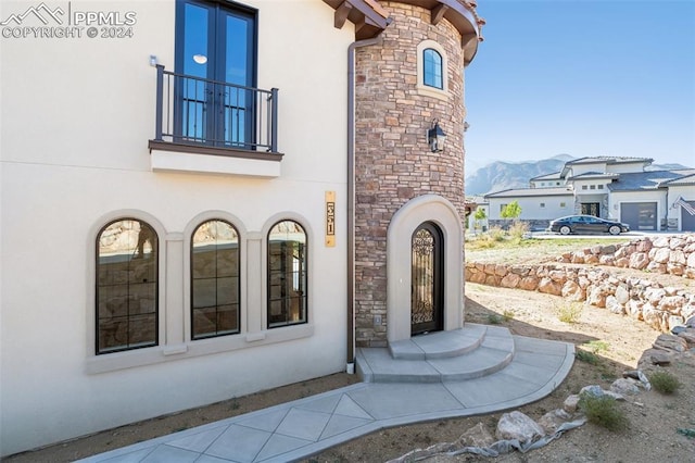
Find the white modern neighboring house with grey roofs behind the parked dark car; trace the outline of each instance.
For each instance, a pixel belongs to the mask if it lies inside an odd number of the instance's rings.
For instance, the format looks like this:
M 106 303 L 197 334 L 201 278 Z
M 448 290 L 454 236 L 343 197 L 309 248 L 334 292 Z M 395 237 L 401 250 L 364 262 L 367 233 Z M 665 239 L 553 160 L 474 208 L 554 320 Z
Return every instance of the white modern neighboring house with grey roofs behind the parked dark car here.
M 531 178 L 531 188 L 485 195 L 491 225 L 504 224 L 502 209 L 518 201 L 519 218 L 536 229 L 563 215 L 589 214 L 628 223 L 633 230 L 695 230 L 695 170 L 647 171 L 652 162 L 618 157 L 569 161 L 558 173 Z

